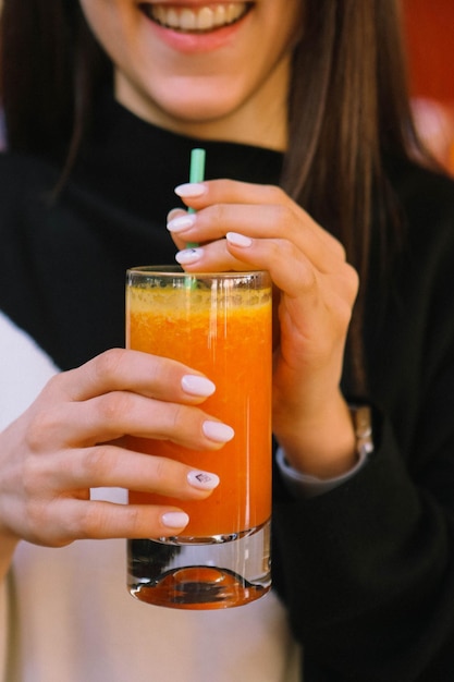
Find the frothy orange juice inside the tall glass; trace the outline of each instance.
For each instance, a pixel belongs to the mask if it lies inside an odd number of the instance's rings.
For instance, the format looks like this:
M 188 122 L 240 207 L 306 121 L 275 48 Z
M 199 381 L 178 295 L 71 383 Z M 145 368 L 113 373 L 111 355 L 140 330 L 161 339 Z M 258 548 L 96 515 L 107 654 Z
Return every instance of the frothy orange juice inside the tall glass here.
M 209 276 L 203 276 L 205 280 Z M 236 276 L 238 278 L 240 276 Z M 218 451 L 196 451 L 164 440 L 131 438 L 140 452 L 169 456 L 218 474 L 220 485 L 203 501 L 130 492 L 132 503 L 169 503 L 189 515 L 185 537 L 242 534 L 271 514 L 271 288 L 226 282 L 130 287 L 127 348 L 177 360 L 217 387 L 201 409 L 232 426 Z

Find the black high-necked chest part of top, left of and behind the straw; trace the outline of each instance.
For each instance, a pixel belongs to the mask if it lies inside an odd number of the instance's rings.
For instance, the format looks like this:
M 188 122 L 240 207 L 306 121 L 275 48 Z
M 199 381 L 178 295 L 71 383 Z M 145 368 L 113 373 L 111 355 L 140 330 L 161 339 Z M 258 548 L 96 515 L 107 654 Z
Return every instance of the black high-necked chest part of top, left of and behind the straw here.
M 174 263 L 165 217 L 182 206 L 173 188 L 188 180 L 194 146 L 110 99 L 93 139 L 58 200 L 51 159 L 0 156 L 0 306 L 62 369 L 124 344 L 127 267 Z M 207 178 L 279 178 L 277 153 L 204 146 Z

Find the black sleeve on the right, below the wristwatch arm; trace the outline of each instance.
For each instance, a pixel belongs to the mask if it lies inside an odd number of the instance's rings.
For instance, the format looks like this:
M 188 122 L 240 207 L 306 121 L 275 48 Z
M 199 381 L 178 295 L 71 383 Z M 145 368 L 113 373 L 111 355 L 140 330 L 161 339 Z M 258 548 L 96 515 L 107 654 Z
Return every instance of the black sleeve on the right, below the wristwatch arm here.
M 320 497 L 275 482 L 275 585 L 305 682 L 454 679 L 454 193 L 424 180 L 371 334 L 376 450 Z

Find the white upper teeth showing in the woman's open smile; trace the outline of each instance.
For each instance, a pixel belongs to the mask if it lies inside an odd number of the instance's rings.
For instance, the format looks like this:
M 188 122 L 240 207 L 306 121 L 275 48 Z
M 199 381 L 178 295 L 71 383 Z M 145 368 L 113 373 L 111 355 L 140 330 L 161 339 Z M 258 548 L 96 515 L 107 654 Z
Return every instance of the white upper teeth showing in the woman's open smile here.
M 144 2 L 140 10 L 156 24 L 181 33 L 206 33 L 230 26 L 246 16 L 253 2 L 225 2 L 199 8 Z

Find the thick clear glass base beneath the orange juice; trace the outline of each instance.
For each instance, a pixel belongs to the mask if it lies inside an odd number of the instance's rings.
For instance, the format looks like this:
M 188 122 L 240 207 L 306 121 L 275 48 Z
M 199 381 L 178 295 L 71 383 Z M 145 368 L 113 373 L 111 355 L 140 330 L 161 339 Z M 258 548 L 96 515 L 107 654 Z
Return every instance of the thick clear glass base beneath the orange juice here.
M 128 540 L 128 589 L 175 609 L 224 609 L 271 587 L 270 521 L 241 535 Z

